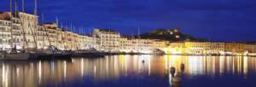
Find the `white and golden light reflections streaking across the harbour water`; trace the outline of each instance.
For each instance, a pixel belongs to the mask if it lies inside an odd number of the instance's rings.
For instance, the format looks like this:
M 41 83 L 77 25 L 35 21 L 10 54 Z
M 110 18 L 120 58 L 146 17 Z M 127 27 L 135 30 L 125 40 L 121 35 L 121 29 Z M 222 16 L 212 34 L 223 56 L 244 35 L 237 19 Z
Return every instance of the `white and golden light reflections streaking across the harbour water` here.
M 182 64 L 184 69 L 181 69 Z M 109 55 L 71 61 L 0 61 L 0 84 L 1 87 L 61 86 L 86 78 L 101 84 L 110 80 L 118 82 L 120 78 L 156 76 L 166 79 L 163 84 L 177 86 L 180 83 L 172 83 L 171 67 L 176 68 L 175 77 L 185 76 L 186 79 L 225 74 L 242 75 L 247 79 L 247 74 L 255 73 L 256 59 L 247 56 Z

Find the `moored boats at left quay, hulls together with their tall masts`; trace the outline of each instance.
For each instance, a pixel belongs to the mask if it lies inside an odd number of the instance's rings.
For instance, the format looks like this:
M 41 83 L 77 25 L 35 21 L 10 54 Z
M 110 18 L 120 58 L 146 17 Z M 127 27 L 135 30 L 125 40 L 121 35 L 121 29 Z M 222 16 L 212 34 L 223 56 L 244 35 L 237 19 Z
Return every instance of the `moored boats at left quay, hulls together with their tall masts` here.
M 35 1 L 36 2 L 36 1 Z M 13 19 L 15 17 L 20 17 L 20 15 L 18 14 L 18 9 L 15 8 L 15 12 L 12 11 L 13 9 L 13 3 L 12 3 L 12 0 L 10 0 L 10 19 Z M 15 4 L 15 7 L 16 7 L 17 4 Z M 35 4 L 35 6 L 37 6 Z M 24 7 L 23 7 L 24 8 Z M 35 14 L 34 16 L 38 16 L 37 15 L 37 11 L 38 9 L 35 9 Z M 24 12 L 24 10 L 23 10 Z M 25 12 L 24 12 L 25 13 Z M 22 18 L 22 17 L 20 17 Z M 42 20 L 44 17 L 42 17 Z M 27 26 L 27 25 L 24 25 L 25 19 L 22 18 L 20 20 L 20 25 L 21 25 L 21 30 L 22 32 L 25 32 L 25 27 L 24 26 Z M 58 29 L 58 20 L 56 20 L 56 29 Z M 15 22 L 13 20 L 10 20 L 10 32 L 14 32 L 14 25 Z M 43 24 L 44 24 L 44 21 L 43 21 Z M 37 21 L 34 21 L 33 22 L 33 25 L 36 25 L 35 26 L 35 30 L 37 31 L 38 29 L 38 22 Z M 54 46 L 51 45 L 51 42 L 50 39 L 49 39 L 49 34 L 47 32 L 47 30 L 44 28 L 44 32 L 46 32 L 46 34 L 44 34 L 44 37 L 46 38 L 45 39 L 45 42 L 49 42 L 49 48 L 48 49 L 38 49 L 38 46 L 37 46 L 37 35 L 36 34 L 37 32 L 33 32 L 34 29 L 31 27 L 31 26 L 28 26 L 28 28 L 32 33 L 32 38 L 33 38 L 33 44 L 35 45 L 35 48 L 31 49 L 31 48 L 28 48 L 28 44 L 27 44 L 27 41 L 26 41 L 26 33 L 21 33 L 22 36 L 23 36 L 23 49 L 24 50 L 18 50 L 16 49 L 16 43 L 17 41 L 13 41 L 12 39 L 14 39 L 14 33 L 11 33 L 10 34 L 10 48 L 11 49 L 4 49 L 2 47 L 2 50 L 0 49 L 0 60 L 6 60 L 6 61 L 9 61 L 9 60 L 15 60 L 15 61 L 23 61 L 23 60 L 48 60 L 48 59 L 67 59 L 67 58 L 71 58 L 72 56 L 103 56 L 104 54 L 102 54 L 101 52 L 97 52 L 97 51 L 91 51 L 90 49 L 87 49 L 87 50 L 79 50 L 79 51 L 72 51 L 72 50 L 59 50 L 59 49 L 56 49 Z M 62 34 L 61 34 L 61 37 L 64 37 Z M 62 38 L 63 39 L 63 38 Z M 3 43 L 3 40 L 2 40 L 2 43 Z M 15 44 L 15 45 L 14 45 Z M 67 45 L 65 45 L 67 46 Z M 44 47 L 44 46 L 43 46 Z M 92 53 L 90 53 L 92 52 Z

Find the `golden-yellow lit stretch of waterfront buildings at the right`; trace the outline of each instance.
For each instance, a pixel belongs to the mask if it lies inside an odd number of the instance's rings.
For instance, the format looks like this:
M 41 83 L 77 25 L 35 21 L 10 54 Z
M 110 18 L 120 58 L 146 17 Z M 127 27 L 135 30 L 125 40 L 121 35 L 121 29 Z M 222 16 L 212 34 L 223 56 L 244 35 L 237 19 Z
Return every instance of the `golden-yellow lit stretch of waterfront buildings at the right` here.
M 182 55 L 244 55 L 255 53 L 256 45 L 233 44 L 217 42 L 181 42 L 170 43 L 165 50 L 166 54 Z

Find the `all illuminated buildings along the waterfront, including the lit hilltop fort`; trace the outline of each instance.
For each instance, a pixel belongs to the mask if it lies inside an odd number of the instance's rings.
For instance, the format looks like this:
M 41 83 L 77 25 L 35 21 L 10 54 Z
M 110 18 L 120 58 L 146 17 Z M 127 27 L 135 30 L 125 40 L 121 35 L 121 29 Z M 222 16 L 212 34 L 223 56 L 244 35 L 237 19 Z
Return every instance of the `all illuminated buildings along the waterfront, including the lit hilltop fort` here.
M 73 30 L 73 29 L 71 29 Z M 164 32 L 161 32 L 164 33 Z M 168 31 L 175 38 L 178 29 Z M 12 36 L 12 37 L 11 37 Z M 38 25 L 38 16 L 24 12 L 0 13 L 0 47 L 9 50 L 49 49 L 55 46 L 61 50 L 96 49 L 105 52 L 152 54 L 162 50 L 166 54 L 178 55 L 255 55 L 255 44 L 218 42 L 177 42 L 158 39 L 129 38 L 119 32 L 95 28 L 92 36 L 81 35 L 60 28 L 57 23 Z M 13 39 L 11 39 L 13 38 Z

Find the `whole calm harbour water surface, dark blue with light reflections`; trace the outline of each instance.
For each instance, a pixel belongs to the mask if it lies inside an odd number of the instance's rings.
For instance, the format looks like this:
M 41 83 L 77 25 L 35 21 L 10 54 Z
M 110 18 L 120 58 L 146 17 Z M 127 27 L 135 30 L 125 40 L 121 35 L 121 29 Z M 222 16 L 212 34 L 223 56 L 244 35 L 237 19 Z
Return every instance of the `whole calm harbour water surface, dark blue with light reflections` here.
M 171 67 L 176 69 L 173 76 Z M 108 55 L 0 61 L 0 87 L 254 87 L 255 83 L 256 57 L 247 56 Z

